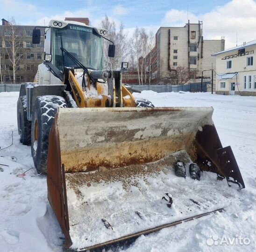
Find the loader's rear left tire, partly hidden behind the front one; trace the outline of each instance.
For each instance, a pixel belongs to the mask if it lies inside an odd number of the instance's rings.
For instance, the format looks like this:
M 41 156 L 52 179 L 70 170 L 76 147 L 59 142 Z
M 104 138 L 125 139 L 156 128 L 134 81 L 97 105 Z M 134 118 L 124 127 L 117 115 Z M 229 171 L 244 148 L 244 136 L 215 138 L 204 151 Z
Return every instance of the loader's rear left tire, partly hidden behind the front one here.
M 20 96 L 17 101 L 17 123 L 21 143 L 30 145 L 31 122 L 27 119 L 27 97 L 25 95 Z

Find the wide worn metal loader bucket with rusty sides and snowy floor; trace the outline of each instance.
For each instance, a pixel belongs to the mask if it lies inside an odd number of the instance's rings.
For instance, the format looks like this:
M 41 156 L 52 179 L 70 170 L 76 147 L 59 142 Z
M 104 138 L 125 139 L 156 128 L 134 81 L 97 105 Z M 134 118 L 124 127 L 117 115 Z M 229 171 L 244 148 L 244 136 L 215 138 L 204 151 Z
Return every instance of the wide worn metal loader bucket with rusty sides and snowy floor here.
M 169 182 L 177 160 L 196 162 L 244 188 L 212 113 L 205 107 L 60 108 L 49 137 L 47 184 L 66 245 L 95 248 L 175 223 L 180 212 L 191 216 L 195 200 L 186 187 L 180 198 Z M 172 212 L 161 201 L 170 191 L 180 198 Z M 207 194 L 199 201 L 199 215 L 206 205 L 216 209 L 206 204 Z

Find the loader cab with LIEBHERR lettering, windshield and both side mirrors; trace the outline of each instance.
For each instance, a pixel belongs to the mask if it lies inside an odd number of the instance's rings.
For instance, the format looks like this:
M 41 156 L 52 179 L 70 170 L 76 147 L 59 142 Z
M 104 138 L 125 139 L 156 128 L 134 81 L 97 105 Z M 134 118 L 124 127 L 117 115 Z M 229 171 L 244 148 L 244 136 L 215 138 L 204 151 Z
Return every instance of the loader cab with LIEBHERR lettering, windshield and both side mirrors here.
M 44 61 L 52 63 L 60 71 L 64 66 L 78 67 L 65 55 L 62 49 L 66 49 L 88 69 L 102 70 L 103 38 L 106 35 L 107 30 L 92 28 L 75 21 L 51 20 L 49 27 L 45 28 Z M 36 29 L 33 32 L 33 41 L 40 42 L 40 34 Z M 109 46 L 108 56 L 114 56 L 114 45 Z

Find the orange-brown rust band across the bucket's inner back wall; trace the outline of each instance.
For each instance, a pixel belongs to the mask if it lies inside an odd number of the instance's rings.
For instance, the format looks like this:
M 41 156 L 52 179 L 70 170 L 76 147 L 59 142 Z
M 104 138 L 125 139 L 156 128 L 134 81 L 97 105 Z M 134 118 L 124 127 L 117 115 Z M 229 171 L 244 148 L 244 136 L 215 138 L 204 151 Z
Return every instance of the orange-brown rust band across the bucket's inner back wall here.
M 162 159 L 168 154 L 184 149 L 184 138 L 152 139 L 107 145 L 105 148 L 80 149 L 61 153 L 65 172 L 87 172 L 100 166 L 117 168 L 143 164 Z

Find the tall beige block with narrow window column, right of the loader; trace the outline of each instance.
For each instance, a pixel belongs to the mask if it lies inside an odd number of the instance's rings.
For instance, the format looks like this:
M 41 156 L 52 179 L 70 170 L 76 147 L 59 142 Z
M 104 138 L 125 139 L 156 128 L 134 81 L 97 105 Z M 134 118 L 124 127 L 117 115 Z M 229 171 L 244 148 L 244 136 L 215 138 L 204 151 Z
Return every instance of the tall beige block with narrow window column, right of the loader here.
M 216 69 L 212 54 L 224 47 L 224 38 L 204 40 L 200 21 L 188 21 L 184 27 L 160 27 L 156 32 L 156 46 L 146 56 L 146 70 L 155 83 L 173 76 L 177 67 L 187 68 L 191 78 L 197 78 L 202 70 Z M 210 77 L 211 71 L 205 71 L 204 76 Z

